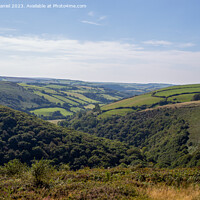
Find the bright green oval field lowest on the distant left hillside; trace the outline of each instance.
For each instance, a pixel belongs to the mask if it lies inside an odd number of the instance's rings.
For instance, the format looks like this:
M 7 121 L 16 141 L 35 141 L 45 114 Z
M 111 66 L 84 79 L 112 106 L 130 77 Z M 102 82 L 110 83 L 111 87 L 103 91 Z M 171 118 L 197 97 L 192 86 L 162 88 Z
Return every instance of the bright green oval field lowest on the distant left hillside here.
M 59 108 L 59 107 L 55 107 L 55 108 L 40 108 L 40 109 L 35 109 L 30 111 L 31 113 L 34 113 L 37 116 L 51 116 L 51 114 L 55 111 L 60 111 L 60 113 L 63 116 L 67 116 L 67 115 L 72 115 L 72 112 L 69 112 L 63 108 Z

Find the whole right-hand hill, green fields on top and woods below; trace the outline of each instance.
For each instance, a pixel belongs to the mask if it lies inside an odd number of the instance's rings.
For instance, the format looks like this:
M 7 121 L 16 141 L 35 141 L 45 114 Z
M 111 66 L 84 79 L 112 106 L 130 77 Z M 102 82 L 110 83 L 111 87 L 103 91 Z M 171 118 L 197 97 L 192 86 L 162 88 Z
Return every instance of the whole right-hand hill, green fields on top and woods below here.
M 147 161 L 159 167 L 200 166 L 199 94 L 200 85 L 169 87 L 60 124 L 142 149 Z

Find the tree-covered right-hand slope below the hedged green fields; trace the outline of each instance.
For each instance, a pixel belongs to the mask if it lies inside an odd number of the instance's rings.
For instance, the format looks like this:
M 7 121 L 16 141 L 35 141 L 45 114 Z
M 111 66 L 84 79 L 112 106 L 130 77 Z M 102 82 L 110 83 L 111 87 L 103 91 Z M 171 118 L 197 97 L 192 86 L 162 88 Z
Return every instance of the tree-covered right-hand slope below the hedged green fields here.
M 160 106 L 124 116 L 76 115 L 62 126 L 142 149 L 159 167 L 200 166 L 200 101 Z

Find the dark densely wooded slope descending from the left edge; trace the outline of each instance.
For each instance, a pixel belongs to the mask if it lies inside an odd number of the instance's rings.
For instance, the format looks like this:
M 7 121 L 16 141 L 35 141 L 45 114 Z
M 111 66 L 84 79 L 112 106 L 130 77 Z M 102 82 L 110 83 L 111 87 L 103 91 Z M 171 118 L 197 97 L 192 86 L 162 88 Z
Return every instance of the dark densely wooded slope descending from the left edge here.
M 44 158 L 78 169 L 131 164 L 136 157 L 142 162 L 141 152 L 129 148 L 0 106 L 0 164 L 15 158 L 30 164 L 33 159 Z

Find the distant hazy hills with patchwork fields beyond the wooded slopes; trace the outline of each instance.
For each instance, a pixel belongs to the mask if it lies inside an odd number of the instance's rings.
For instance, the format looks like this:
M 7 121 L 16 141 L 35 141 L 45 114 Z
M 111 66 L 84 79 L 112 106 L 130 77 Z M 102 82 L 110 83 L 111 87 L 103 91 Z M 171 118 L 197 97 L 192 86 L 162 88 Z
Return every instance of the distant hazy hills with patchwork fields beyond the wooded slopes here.
M 0 104 L 35 114 L 43 119 L 64 119 L 80 110 L 93 109 L 95 104 L 102 106 L 135 94 L 169 86 L 23 77 L 0 77 L 0 80 L 2 88 L 7 88 L 6 93 L 4 89 L 0 90 Z M 18 93 L 20 95 L 17 95 Z

